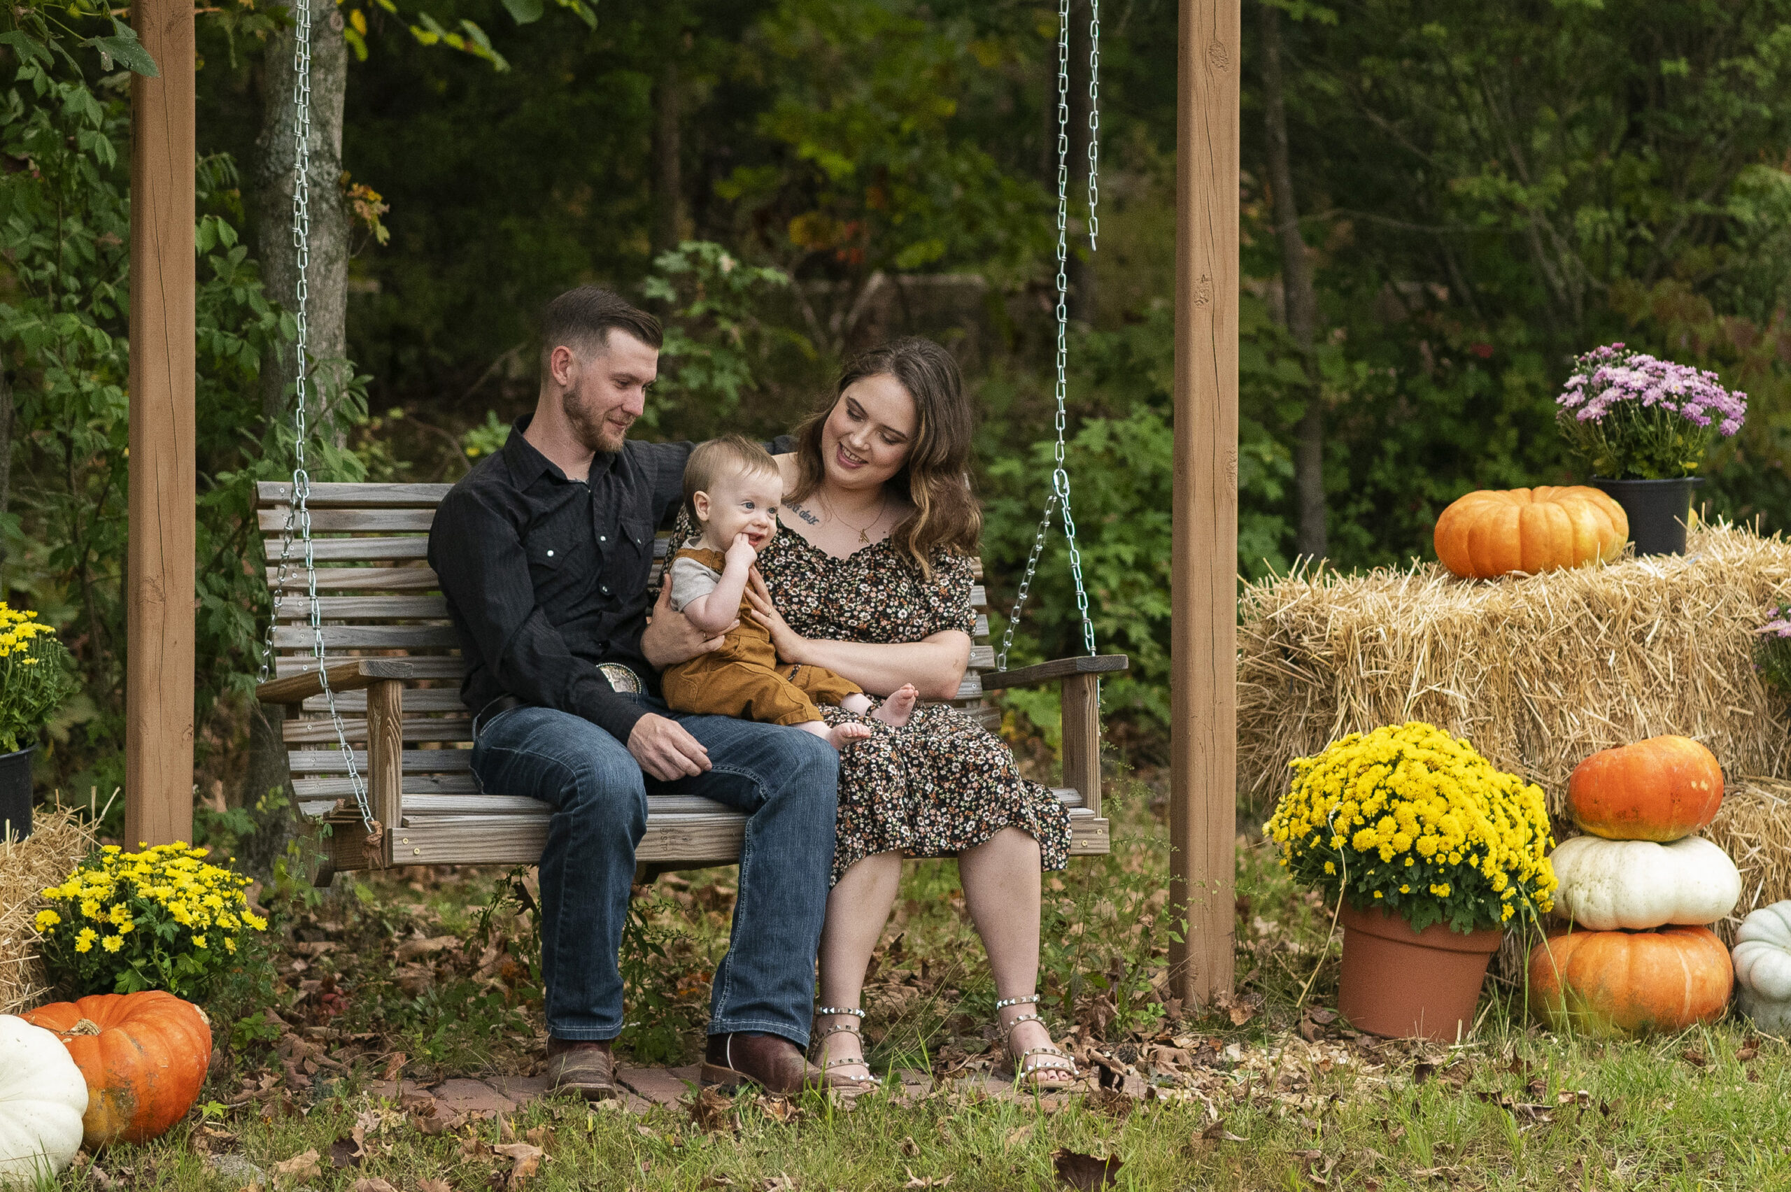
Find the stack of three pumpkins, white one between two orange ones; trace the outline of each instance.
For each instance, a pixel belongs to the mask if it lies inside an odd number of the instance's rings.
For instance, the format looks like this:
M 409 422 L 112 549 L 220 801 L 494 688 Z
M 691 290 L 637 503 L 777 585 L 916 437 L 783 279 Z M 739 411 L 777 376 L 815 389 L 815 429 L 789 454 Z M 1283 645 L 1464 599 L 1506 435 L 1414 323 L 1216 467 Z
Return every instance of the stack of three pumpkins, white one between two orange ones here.
M 1530 1004 L 1553 1027 L 1682 1031 L 1723 1017 L 1728 949 L 1709 924 L 1741 900 L 1741 872 L 1696 836 L 1723 802 L 1723 770 L 1687 737 L 1603 750 L 1567 782 L 1585 836 L 1549 857 L 1571 924 L 1530 954 Z

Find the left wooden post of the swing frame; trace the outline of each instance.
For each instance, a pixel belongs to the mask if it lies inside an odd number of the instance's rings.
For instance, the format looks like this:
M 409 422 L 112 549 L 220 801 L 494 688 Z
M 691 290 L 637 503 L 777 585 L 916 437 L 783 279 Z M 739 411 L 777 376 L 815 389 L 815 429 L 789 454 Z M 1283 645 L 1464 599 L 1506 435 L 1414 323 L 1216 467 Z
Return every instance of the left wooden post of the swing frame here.
M 193 838 L 193 5 L 134 0 L 125 847 Z

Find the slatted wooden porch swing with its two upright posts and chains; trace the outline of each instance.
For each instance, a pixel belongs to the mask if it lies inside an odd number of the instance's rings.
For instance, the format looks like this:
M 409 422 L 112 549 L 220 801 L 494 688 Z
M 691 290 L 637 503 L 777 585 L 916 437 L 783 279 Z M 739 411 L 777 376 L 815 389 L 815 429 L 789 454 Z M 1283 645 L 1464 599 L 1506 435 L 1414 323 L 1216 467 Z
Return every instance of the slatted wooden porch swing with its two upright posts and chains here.
M 310 5 L 294 9 L 308 38 Z M 1067 23 L 1067 0 L 1058 11 Z M 131 23 L 159 73 L 133 79 L 125 838 L 167 843 L 192 839 L 193 800 L 193 9 L 138 0 Z M 1238 0 L 1180 0 L 1177 57 L 1170 898 L 1187 924 L 1173 936 L 1170 977 L 1189 1004 L 1207 1004 L 1232 988 Z M 308 41 L 301 41 L 299 63 L 308 64 Z M 1058 66 L 1062 161 L 1064 38 Z M 296 140 L 303 179 L 308 136 Z M 294 204 L 301 234 L 304 193 L 301 184 Z M 1064 224 L 1060 181 L 1060 233 Z M 303 238 L 297 243 L 303 260 Z M 1062 263 L 1062 247 L 1058 254 Z M 303 304 L 299 326 L 303 360 Z M 263 533 L 283 532 L 292 514 L 304 533 L 306 567 L 285 578 L 270 569 L 281 607 L 303 583 L 304 616 L 276 614 L 270 675 L 258 696 L 299 712 L 285 727 L 299 800 L 312 809 L 337 809 L 344 800 L 346 809 L 353 798 L 353 813 L 331 816 L 347 820 L 335 825 L 330 845 L 340 868 L 523 863 L 539 856 L 544 839 L 543 805 L 480 793 L 467 766 L 471 727 L 457 689 L 464 664 L 435 575 L 423 562 L 444 492 L 446 485 L 310 485 L 303 456 L 294 483 L 260 489 Z M 1060 492 L 1053 480 L 1057 496 L 1067 498 L 1067 489 Z M 1105 852 L 1098 682 L 1125 669 L 1125 659 L 992 669 L 981 587 L 976 600 L 980 641 L 953 703 L 987 719 L 994 716 L 981 698 L 987 691 L 1058 682 L 1058 798 L 1069 807 L 1073 852 Z M 1085 644 L 1094 655 L 1093 635 L 1085 634 Z M 374 825 L 378 832 L 369 830 Z M 715 864 L 733 859 L 738 847 L 738 816 L 700 798 L 666 796 L 654 800 L 639 859 L 659 868 Z

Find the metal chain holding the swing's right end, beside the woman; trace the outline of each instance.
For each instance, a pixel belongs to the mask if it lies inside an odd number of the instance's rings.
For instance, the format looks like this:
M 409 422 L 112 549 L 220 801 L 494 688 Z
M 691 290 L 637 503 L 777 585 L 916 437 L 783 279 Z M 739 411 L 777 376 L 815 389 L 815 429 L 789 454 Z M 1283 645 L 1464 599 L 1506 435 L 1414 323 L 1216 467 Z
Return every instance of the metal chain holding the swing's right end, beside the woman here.
M 1098 0 L 1096 0 L 1098 2 Z M 1100 9 L 1096 7 L 1096 18 L 1089 25 L 1089 36 L 1100 36 Z M 1089 55 L 1089 63 L 1096 64 L 1100 61 L 1100 43 L 1094 43 L 1094 50 Z M 1089 82 L 1089 131 L 1098 127 L 1093 111 L 1093 100 L 1096 97 L 1094 82 Z M 1098 149 L 1094 138 L 1089 141 L 1089 193 L 1094 197 L 1094 174 L 1093 163 L 1098 159 Z M 1089 247 L 1094 247 L 1093 233 L 1093 209 L 1089 211 Z M 1067 424 L 1067 415 L 1064 412 L 1064 399 L 1069 394 L 1069 0 L 1058 0 L 1057 5 L 1057 446 L 1053 451 L 1055 467 L 1051 469 L 1051 494 L 1044 501 L 1044 517 L 1039 519 L 1039 533 L 1033 535 L 1032 553 L 1026 557 L 1026 573 L 1021 576 L 1019 592 L 1014 596 L 1014 609 L 1008 612 L 1007 630 L 1001 634 L 1001 653 L 996 655 L 996 669 L 1007 669 L 1007 655 L 1014 646 L 1014 628 L 1019 625 L 1019 614 L 1026 607 L 1026 598 L 1032 594 L 1032 578 L 1039 571 L 1039 557 L 1044 553 L 1044 541 L 1051 532 L 1051 514 L 1058 507 L 1064 510 L 1064 541 L 1069 542 L 1069 575 L 1076 582 L 1076 612 L 1082 614 L 1082 644 L 1087 651 L 1094 653 L 1094 623 L 1089 619 L 1089 592 L 1082 585 L 1082 549 L 1076 546 L 1076 519 L 1069 508 L 1069 473 L 1064 467 L 1064 428 Z

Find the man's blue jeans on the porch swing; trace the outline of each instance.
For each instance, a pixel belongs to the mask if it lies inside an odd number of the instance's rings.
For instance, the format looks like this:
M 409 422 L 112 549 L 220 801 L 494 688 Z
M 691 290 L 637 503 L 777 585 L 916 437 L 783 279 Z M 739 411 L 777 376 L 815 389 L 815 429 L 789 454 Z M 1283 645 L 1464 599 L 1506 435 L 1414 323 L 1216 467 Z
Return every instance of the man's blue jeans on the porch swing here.
M 808 1047 L 815 949 L 827 907 L 838 754 L 801 728 L 731 716 L 677 719 L 709 750 L 711 770 L 659 782 L 582 716 L 518 707 L 480 725 L 473 773 L 493 795 L 553 805 L 541 850 L 541 970 L 548 1033 L 607 1040 L 621 1033 L 616 952 L 629 920 L 634 848 L 647 795 L 702 795 L 747 813 L 733 938 L 715 970 L 709 1034 L 759 1031 Z

